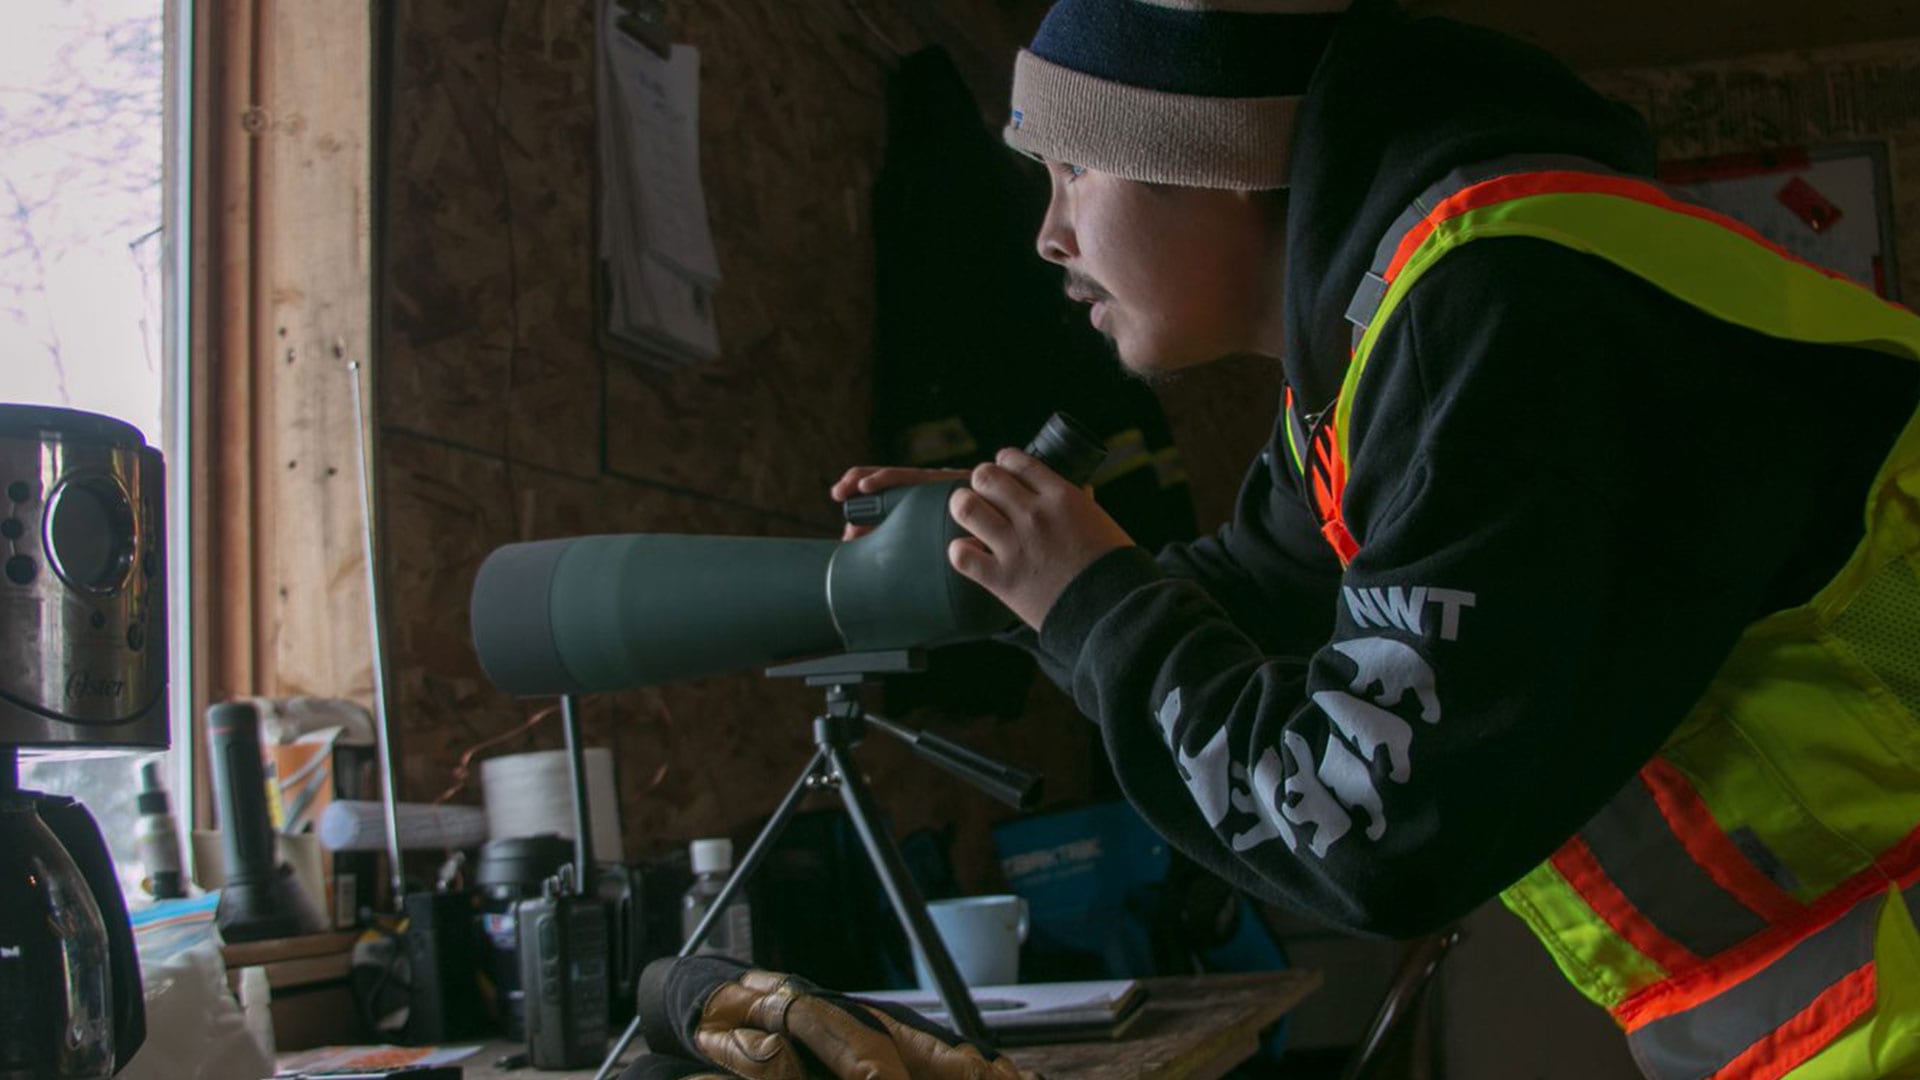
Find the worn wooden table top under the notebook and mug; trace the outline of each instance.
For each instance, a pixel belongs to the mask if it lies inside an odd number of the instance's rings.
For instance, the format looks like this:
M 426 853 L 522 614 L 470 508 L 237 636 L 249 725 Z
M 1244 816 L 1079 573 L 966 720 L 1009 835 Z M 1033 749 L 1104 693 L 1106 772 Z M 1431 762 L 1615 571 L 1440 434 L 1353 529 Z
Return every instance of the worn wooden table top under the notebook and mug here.
M 1321 984 L 1317 970 L 1142 978 L 1148 997 L 1140 1017 L 1114 1042 L 1023 1045 L 1008 1049 L 1021 1068 L 1046 1080 L 1217 1080 L 1254 1057 L 1260 1038 Z M 591 1080 L 595 1068 L 543 1072 L 493 1068 L 522 1049 L 490 1042 L 468 1057 L 467 1080 Z M 618 1076 L 618 1072 L 614 1074 Z

